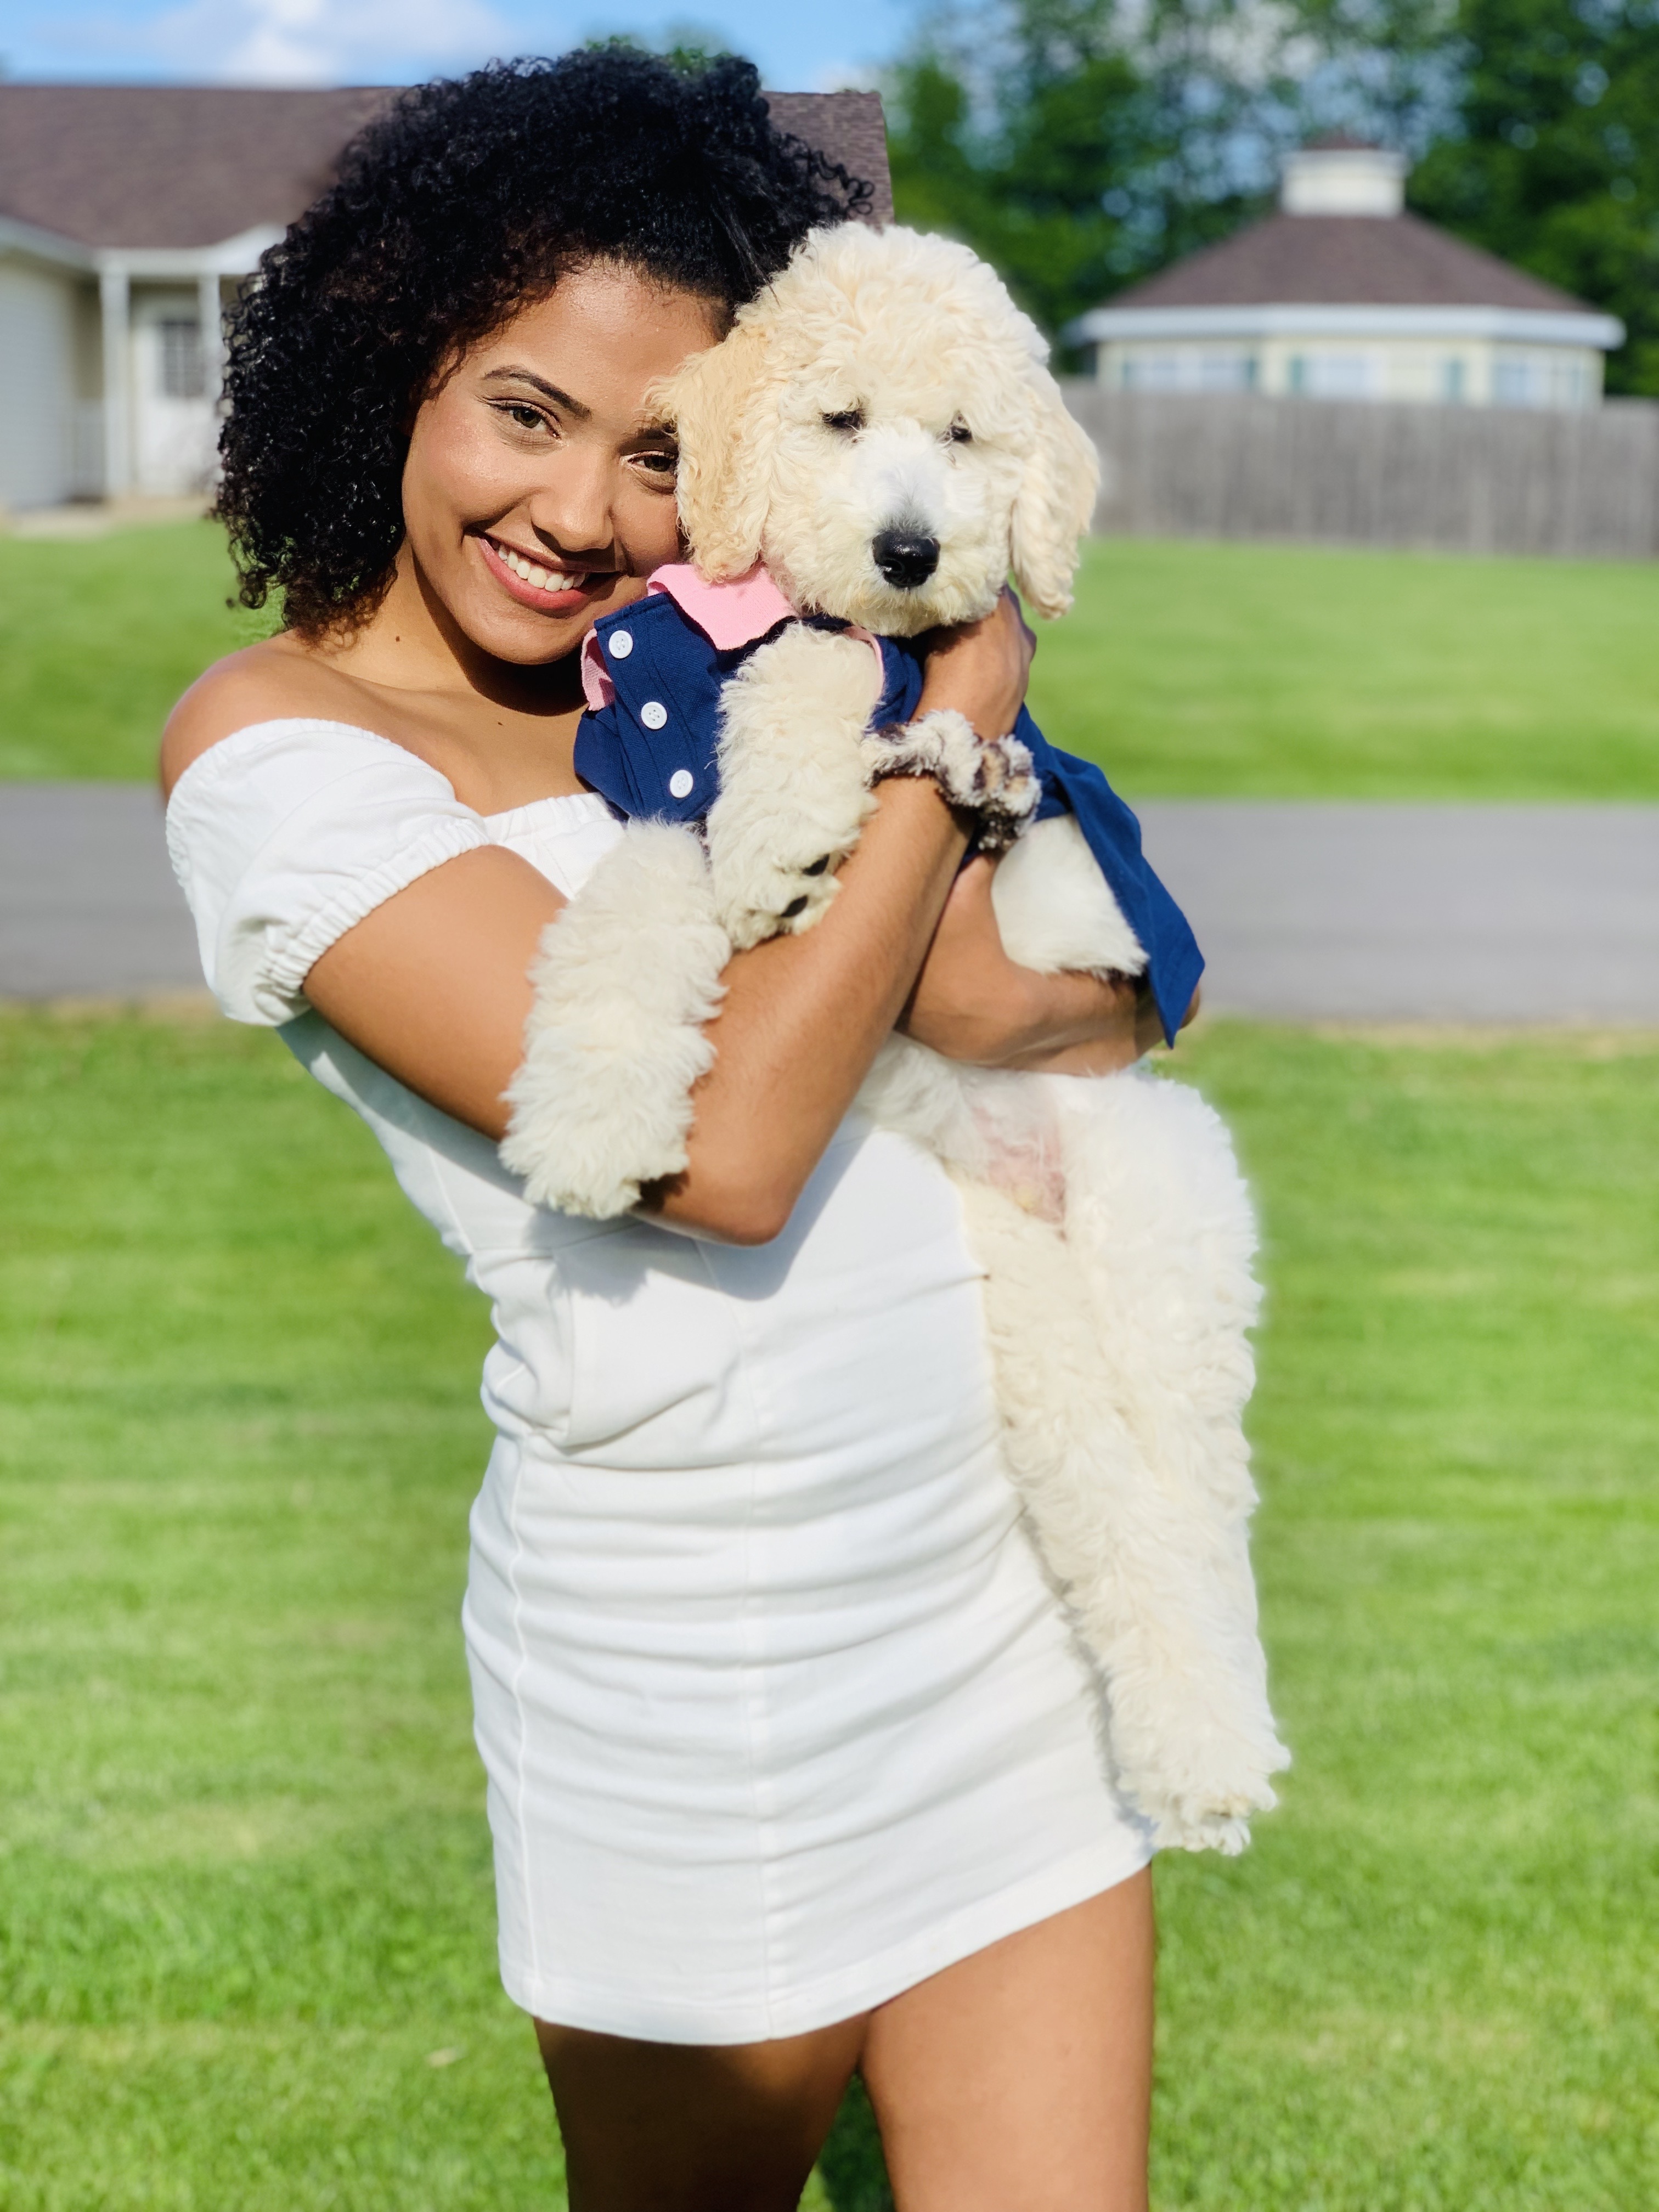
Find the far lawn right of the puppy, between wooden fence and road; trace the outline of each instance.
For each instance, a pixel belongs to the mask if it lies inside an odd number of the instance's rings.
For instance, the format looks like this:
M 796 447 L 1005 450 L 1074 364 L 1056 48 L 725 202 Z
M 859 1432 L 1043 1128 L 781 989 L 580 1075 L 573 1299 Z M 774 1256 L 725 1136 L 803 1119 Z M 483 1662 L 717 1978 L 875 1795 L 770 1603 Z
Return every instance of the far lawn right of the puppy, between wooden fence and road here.
M 1130 799 L 1659 799 L 1659 564 L 1093 540 L 1031 706 Z

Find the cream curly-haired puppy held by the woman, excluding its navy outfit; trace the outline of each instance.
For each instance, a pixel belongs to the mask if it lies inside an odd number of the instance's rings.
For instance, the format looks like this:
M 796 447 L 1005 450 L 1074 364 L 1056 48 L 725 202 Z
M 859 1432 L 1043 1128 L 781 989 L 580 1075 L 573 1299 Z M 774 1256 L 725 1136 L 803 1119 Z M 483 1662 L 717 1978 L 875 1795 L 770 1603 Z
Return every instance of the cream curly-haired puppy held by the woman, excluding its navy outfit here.
M 1044 615 L 1071 604 L 1095 453 L 998 276 L 942 239 L 816 232 L 666 403 L 699 573 L 761 564 L 799 615 L 858 628 L 761 644 L 721 695 L 706 845 L 630 825 L 546 933 L 502 1157 L 586 1214 L 686 1166 L 719 973 L 821 918 L 880 774 L 933 774 L 1009 845 L 993 900 L 1013 960 L 1146 967 L 1075 818 L 1026 827 L 1022 745 L 956 714 L 869 730 L 883 670 L 863 633 L 984 615 L 1009 568 Z M 1006 1075 L 900 1037 L 860 1106 L 962 1190 L 1009 1467 L 1102 1661 L 1121 1787 L 1159 1843 L 1241 1849 L 1287 1754 L 1245 1546 L 1254 1223 L 1221 1121 L 1141 1073 Z

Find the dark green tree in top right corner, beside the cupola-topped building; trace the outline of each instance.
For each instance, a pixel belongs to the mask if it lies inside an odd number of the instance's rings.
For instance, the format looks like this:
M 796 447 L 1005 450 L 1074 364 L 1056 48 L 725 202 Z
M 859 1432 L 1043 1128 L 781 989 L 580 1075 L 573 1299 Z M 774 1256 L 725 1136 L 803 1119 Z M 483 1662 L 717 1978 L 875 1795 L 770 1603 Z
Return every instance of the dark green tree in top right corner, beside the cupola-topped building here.
M 1659 394 L 1659 0 L 1460 0 L 1455 124 L 1411 206 L 1624 319 Z

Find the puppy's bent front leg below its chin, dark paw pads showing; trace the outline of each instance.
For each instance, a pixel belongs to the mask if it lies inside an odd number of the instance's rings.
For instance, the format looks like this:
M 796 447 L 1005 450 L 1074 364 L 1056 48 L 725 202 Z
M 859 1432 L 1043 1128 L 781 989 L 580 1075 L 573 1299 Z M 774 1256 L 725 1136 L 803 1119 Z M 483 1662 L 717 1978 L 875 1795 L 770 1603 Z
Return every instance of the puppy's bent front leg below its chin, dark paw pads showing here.
M 714 911 L 732 947 L 812 929 L 869 816 L 869 646 L 792 626 L 739 668 L 721 706 L 721 794 L 708 814 Z

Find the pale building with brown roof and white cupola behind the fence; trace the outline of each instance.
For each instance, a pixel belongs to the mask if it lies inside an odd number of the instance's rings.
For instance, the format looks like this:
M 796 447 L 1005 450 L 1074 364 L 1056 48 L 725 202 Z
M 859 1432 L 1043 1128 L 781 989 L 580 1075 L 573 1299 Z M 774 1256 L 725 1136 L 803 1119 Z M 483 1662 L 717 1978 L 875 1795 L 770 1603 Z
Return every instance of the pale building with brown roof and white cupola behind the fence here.
M 1323 139 L 1279 210 L 1079 316 L 1115 389 L 1595 407 L 1624 325 L 1405 210 L 1402 155 Z

